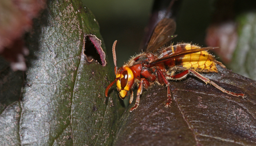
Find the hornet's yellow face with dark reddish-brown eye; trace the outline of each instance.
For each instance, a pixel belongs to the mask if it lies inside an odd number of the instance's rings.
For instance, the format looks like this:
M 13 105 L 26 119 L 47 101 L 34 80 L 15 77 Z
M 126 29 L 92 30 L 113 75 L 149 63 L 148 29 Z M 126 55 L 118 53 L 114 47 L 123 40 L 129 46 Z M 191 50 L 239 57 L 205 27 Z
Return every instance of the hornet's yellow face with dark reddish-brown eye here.
M 117 70 L 116 78 L 120 78 L 116 81 L 116 86 L 120 98 L 124 99 L 134 82 L 132 70 L 128 66 L 121 67 Z

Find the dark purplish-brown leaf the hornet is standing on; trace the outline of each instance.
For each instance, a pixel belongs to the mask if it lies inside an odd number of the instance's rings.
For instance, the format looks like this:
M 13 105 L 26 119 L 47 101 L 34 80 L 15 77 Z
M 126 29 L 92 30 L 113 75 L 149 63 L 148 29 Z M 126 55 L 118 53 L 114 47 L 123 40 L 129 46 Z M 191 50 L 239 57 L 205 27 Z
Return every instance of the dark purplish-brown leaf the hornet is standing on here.
M 139 107 L 121 117 L 115 145 L 256 145 L 256 82 L 220 68 L 203 74 L 232 92 L 223 93 L 195 76 L 171 81 L 172 104 L 165 108 L 167 89 L 144 91 Z

